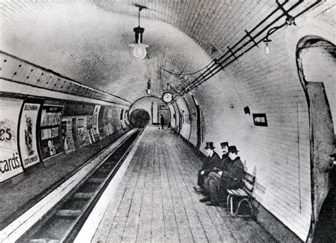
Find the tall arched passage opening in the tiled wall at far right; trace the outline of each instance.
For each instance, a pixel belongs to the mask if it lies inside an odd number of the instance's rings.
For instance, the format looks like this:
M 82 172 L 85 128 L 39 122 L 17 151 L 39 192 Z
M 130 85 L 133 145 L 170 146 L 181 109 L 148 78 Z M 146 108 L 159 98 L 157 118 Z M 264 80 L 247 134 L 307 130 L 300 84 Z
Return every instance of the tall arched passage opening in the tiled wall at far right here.
M 316 59 L 311 56 L 315 54 L 313 48 L 322 52 Z M 315 80 L 316 77 L 310 75 L 310 72 L 322 69 L 325 72 L 325 65 L 333 65 L 336 59 L 335 50 L 332 42 L 320 36 L 304 36 L 298 41 L 296 50 L 298 76 L 309 108 L 312 217 L 308 242 L 323 238 L 326 240 L 331 237 L 333 230 L 328 228 L 329 215 L 326 214 L 330 212 L 326 212 L 325 208 L 330 207 L 335 200 L 331 191 L 332 186 L 335 186 L 332 185 L 332 176 L 335 176 L 332 173 L 335 173 L 335 170 L 332 170 L 330 158 L 330 154 L 335 153 L 335 74 L 328 77 L 319 75 L 318 80 Z M 323 56 L 323 53 L 329 54 L 332 60 L 326 60 L 327 56 Z M 325 78 L 321 80 L 321 77 Z M 326 87 L 331 87 L 331 90 L 327 90 Z M 331 210 L 334 210 L 335 214 L 335 208 Z

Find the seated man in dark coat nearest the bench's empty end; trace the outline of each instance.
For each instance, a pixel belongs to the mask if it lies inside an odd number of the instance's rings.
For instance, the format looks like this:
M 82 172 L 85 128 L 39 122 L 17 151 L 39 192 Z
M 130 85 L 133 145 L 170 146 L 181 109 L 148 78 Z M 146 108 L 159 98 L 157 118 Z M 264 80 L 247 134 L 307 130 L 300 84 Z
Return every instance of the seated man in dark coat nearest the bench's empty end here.
M 210 191 L 208 191 L 208 197 L 203 198 L 203 202 L 209 201 L 206 202 L 206 205 L 208 206 L 219 205 L 219 194 L 220 192 L 223 192 L 223 190 L 244 187 L 244 182 L 242 181 L 245 176 L 244 165 L 238 156 L 237 148 L 235 146 L 230 146 L 228 155 L 231 161 L 225 171 L 218 172 L 220 179 L 216 177 L 209 180 Z

